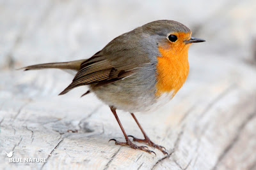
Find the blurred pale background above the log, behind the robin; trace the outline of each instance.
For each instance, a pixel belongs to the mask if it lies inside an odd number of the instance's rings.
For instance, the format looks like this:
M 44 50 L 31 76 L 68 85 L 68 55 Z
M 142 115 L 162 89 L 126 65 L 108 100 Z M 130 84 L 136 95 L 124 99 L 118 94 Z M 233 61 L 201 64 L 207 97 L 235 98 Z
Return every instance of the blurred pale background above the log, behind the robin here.
M 89 58 L 116 36 L 161 19 L 179 21 L 191 29 L 193 36 L 207 40 L 191 46 L 190 62 L 202 56 L 205 62 L 214 57 L 222 62 L 237 60 L 255 66 L 255 9 L 255 1 L 250 0 L 1 0 L 0 69 L 5 72 L 42 62 Z M 220 69 L 221 66 L 214 66 L 209 71 Z M 47 76 L 37 78 L 47 81 Z M 58 78 L 52 80 L 56 86 L 60 83 Z

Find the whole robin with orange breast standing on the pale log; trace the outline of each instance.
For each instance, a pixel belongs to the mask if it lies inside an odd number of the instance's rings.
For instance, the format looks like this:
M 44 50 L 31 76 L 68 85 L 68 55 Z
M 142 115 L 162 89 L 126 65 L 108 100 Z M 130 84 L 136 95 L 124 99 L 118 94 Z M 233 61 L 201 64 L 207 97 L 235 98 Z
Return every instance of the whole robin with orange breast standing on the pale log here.
M 167 154 L 164 146 L 150 140 L 134 113 L 156 110 L 175 96 L 189 73 L 189 46 L 204 41 L 191 36 L 189 28 L 179 22 L 156 20 L 116 37 L 89 59 L 36 64 L 21 69 L 76 71 L 72 83 L 59 95 L 87 85 L 89 90 L 82 96 L 93 92 L 108 104 L 125 137 L 124 142 L 109 141 L 156 154 L 148 149 L 147 146 L 151 146 Z M 127 135 L 116 110 L 131 113 L 144 139 Z M 147 146 L 138 146 L 134 141 Z

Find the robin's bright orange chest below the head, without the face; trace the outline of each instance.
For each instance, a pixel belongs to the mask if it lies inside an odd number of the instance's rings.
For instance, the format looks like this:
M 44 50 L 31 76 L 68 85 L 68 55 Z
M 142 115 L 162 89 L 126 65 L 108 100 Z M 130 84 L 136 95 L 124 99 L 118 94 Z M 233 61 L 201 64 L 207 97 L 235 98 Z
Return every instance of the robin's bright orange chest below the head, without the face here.
M 157 57 L 157 83 L 156 96 L 172 94 L 178 92 L 185 83 L 189 73 L 188 54 L 182 57 Z

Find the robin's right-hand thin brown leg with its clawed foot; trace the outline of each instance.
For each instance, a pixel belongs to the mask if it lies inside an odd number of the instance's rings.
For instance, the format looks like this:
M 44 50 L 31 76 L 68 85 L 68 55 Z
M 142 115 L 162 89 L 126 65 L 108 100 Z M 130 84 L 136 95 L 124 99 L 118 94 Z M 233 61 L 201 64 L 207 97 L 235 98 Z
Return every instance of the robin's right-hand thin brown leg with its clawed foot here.
M 163 152 L 164 154 L 167 154 L 166 149 L 164 148 L 164 146 L 160 146 L 160 145 L 156 145 L 155 143 L 153 143 L 147 136 L 147 134 L 144 132 L 144 130 L 142 129 L 140 123 L 138 122 L 137 118 L 135 117 L 135 115 L 133 113 L 131 113 L 132 117 L 134 118 L 135 122 L 137 123 L 138 127 L 140 127 L 140 130 L 144 136 L 145 139 L 138 139 L 135 138 L 134 136 L 129 135 L 128 137 L 132 137 L 133 141 L 137 141 L 140 143 L 147 143 L 148 146 L 152 146 L 153 148 L 157 148 L 158 150 L 161 150 L 161 152 Z

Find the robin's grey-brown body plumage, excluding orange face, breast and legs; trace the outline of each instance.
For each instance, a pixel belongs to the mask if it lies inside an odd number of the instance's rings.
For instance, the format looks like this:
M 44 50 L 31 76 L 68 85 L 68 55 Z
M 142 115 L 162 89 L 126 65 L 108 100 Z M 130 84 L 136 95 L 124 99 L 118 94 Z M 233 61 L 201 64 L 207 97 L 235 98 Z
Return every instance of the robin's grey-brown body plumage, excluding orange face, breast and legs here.
M 76 70 L 74 80 L 61 94 L 89 85 L 99 99 L 125 111 L 143 111 L 156 103 L 158 46 L 170 43 L 170 32 L 190 32 L 171 20 L 157 20 L 113 39 L 90 59 L 38 64 L 23 69 L 59 68 Z

